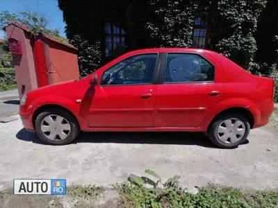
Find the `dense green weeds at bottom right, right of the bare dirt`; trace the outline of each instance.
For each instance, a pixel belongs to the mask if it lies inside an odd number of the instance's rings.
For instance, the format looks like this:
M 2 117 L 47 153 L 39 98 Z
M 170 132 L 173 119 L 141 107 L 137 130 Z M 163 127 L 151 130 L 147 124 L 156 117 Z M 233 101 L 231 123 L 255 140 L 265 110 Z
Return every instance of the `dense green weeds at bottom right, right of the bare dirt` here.
M 193 194 L 181 188 L 177 180 L 163 184 L 161 180 L 141 178 L 143 184 L 129 177 L 129 182 L 117 186 L 123 207 L 278 207 L 277 191 L 250 192 L 209 184 Z

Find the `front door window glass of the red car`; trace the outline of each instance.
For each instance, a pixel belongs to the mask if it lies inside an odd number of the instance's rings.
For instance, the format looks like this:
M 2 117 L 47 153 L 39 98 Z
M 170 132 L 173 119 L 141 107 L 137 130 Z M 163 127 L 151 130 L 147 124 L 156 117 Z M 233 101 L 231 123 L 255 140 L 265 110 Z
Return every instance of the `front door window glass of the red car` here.
M 152 83 L 157 54 L 135 55 L 104 72 L 101 85 L 134 85 Z

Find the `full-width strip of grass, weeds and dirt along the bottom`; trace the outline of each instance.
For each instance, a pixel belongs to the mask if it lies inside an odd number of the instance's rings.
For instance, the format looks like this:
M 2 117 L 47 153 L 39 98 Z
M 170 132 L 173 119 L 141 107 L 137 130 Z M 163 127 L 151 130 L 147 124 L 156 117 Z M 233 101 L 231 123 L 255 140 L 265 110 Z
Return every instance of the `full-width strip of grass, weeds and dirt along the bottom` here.
M 15 196 L 13 191 L 0 191 L 0 207 L 3 205 L 29 205 L 29 207 L 234 207 L 261 208 L 278 207 L 277 191 L 243 191 L 231 187 L 208 184 L 189 193 L 179 186 L 179 176 L 165 182 L 154 171 L 147 170 L 150 177 L 131 174 L 124 184 L 113 185 L 112 190 L 95 185 L 72 185 L 67 187 L 66 196 Z M 117 191 L 112 203 L 105 205 L 100 199 L 109 191 Z M 118 198 L 119 197 L 119 198 Z M 108 194 L 108 198 L 109 194 Z M 106 200 L 107 200 L 106 199 Z M 22 206 L 24 207 L 24 206 Z

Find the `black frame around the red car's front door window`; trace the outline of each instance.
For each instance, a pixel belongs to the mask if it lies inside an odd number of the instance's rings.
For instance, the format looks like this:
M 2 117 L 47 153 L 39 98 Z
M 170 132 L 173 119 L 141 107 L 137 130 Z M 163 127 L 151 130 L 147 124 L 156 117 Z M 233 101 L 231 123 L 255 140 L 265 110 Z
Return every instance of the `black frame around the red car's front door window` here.
M 112 67 L 115 67 L 115 65 L 119 64 L 120 62 L 123 62 L 125 60 L 128 60 L 129 58 L 132 58 L 134 56 L 138 56 L 138 55 L 150 55 L 150 54 L 155 54 L 156 55 L 156 64 L 154 66 L 154 73 L 152 76 L 152 82 L 151 83 L 135 83 L 135 84 L 117 84 L 117 85 L 104 85 L 102 84 L 102 79 L 104 77 L 104 73 L 106 73 L 106 71 L 108 71 L 109 69 L 111 69 Z M 161 62 L 162 62 L 162 54 L 158 53 L 158 52 L 154 52 L 154 53 L 139 53 L 136 55 L 131 55 L 128 58 L 125 58 L 123 60 L 121 60 L 120 62 L 117 62 L 116 64 L 113 64 L 111 67 L 109 67 L 108 69 L 106 69 L 105 71 L 102 72 L 101 74 L 101 79 L 100 79 L 100 87 L 118 87 L 118 86 L 131 86 L 131 85 L 154 85 L 157 83 L 158 80 L 158 75 L 159 72 L 161 71 Z

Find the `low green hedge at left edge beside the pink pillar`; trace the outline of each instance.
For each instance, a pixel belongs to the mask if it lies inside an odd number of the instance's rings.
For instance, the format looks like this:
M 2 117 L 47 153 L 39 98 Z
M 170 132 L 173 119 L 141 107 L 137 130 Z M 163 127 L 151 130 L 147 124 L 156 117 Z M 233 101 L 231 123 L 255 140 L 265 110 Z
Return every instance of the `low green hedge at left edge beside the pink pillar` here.
M 15 69 L 0 67 L 0 91 L 15 89 Z

